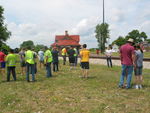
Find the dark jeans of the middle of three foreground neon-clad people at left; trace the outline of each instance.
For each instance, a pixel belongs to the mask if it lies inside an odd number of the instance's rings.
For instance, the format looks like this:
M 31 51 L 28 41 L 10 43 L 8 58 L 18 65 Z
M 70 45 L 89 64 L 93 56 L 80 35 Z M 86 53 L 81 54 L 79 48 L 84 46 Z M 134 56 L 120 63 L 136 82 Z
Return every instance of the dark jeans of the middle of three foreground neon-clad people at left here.
M 35 74 L 34 66 L 35 65 L 27 63 L 26 66 L 27 66 L 26 80 L 29 81 L 29 75 L 31 73 L 32 74 L 32 81 L 35 81 L 35 76 L 34 76 L 34 74 Z

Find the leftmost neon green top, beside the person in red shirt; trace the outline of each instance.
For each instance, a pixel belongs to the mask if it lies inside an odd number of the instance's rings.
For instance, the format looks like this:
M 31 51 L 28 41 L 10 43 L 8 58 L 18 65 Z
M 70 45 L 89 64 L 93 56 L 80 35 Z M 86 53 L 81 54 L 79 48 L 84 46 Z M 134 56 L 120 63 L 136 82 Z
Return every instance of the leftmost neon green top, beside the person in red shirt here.
M 14 67 L 16 66 L 16 61 L 17 61 L 17 57 L 15 54 L 8 54 L 6 56 L 6 64 L 7 64 L 7 67 Z

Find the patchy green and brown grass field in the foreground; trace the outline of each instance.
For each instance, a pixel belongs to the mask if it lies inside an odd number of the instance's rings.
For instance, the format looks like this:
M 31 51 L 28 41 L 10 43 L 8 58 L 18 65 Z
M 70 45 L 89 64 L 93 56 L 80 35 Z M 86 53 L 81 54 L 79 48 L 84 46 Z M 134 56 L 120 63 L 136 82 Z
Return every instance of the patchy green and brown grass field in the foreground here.
M 79 77 L 79 67 L 69 71 L 69 66 L 61 66 L 52 78 L 41 69 L 34 83 L 27 83 L 19 70 L 16 82 L 0 80 L 0 113 L 150 112 L 150 70 L 144 70 L 141 90 L 117 88 L 120 67 L 91 65 L 88 79 Z

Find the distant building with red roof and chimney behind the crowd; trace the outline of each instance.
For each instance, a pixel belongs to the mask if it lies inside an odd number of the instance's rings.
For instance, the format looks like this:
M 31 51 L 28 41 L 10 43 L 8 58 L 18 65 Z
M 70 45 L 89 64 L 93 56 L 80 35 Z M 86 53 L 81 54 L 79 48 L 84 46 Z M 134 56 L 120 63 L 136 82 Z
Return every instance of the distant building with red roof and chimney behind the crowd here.
M 58 47 L 59 49 L 63 47 L 80 47 L 80 36 L 79 35 L 69 35 L 68 31 L 65 31 L 65 35 L 56 35 L 55 43 L 53 43 L 52 47 Z

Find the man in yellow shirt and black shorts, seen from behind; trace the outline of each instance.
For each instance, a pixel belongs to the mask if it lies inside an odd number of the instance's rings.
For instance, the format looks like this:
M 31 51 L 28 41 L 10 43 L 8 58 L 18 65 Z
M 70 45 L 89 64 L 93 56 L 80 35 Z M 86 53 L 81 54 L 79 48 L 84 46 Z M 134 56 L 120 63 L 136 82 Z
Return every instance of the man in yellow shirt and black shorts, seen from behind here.
M 89 56 L 90 51 L 86 49 L 87 45 L 83 44 L 83 49 L 80 51 L 80 57 L 81 57 L 81 68 L 82 68 L 82 74 L 84 78 L 88 77 L 88 71 L 89 71 Z

